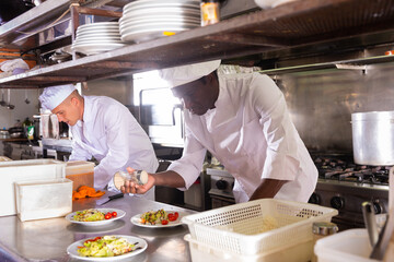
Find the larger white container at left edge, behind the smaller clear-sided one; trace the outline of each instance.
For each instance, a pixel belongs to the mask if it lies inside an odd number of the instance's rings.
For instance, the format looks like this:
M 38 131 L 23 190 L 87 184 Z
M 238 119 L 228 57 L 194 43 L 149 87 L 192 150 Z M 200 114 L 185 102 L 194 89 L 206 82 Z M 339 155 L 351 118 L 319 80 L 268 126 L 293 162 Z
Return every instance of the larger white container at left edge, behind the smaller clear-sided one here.
M 55 159 L 0 162 L 0 216 L 15 215 L 18 181 L 66 177 L 66 163 Z

